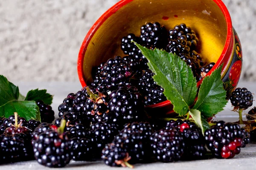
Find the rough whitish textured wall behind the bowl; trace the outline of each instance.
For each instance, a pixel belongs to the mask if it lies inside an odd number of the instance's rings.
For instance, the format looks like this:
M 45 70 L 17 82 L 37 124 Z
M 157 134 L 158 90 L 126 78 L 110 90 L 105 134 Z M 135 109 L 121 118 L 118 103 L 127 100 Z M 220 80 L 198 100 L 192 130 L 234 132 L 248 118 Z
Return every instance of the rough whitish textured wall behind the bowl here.
M 11 81 L 78 81 L 76 61 L 93 23 L 118 0 L 0 1 L 0 74 Z M 242 78 L 256 80 L 255 0 L 224 0 L 243 47 Z

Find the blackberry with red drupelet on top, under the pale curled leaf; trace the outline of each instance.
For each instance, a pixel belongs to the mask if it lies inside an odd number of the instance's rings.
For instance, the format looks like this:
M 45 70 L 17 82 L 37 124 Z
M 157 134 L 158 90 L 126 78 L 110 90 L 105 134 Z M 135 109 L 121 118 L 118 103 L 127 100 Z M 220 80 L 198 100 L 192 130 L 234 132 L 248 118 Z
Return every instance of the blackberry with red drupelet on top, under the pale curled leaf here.
M 186 149 L 184 150 L 183 159 L 202 159 L 205 156 L 206 148 L 204 136 L 201 130 L 194 122 L 189 120 L 182 121 L 181 119 L 170 120 L 166 123 L 167 130 L 179 129 L 182 133 Z

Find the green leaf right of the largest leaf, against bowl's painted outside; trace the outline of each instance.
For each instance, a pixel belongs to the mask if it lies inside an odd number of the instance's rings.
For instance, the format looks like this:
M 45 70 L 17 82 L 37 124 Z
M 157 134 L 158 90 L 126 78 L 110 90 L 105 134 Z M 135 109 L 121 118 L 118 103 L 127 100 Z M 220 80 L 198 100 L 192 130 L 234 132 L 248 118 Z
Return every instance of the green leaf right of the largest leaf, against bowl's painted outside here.
M 221 81 L 222 66 L 204 78 L 198 93 L 198 100 L 193 107 L 193 109 L 201 111 L 201 114 L 206 118 L 223 111 L 227 104 L 226 91 Z

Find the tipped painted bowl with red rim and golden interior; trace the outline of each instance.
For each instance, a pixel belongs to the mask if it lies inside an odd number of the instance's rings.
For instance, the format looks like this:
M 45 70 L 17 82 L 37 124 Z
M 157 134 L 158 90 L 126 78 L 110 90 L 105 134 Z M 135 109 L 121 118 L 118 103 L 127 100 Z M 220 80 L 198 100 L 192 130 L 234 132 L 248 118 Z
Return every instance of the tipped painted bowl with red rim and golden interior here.
M 124 56 L 122 37 L 129 33 L 140 35 L 140 26 L 148 22 L 159 22 L 167 30 L 180 23 L 190 26 L 200 40 L 196 51 L 207 63 L 216 63 L 206 76 L 223 63 L 221 79 L 227 96 L 236 88 L 242 66 L 241 44 L 221 0 L 119 1 L 93 24 L 82 42 L 77 62 L 81 85 L 92 82 L 93 67 L 116 55 Z M 145 108 L 149 112 L 173 113 L 168 100 Z

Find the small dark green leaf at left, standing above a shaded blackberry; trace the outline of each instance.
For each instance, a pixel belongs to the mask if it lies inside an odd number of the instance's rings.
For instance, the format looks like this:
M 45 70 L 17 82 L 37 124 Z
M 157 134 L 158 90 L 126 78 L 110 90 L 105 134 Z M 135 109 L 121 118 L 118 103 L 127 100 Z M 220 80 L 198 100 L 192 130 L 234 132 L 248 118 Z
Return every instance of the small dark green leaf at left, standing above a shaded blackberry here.
M 42 100 L 45 104 L 47 105 L 51 105 L 52 104 L 52 95 L 47 93 L 47 90 L 43 89 L 43 90 L 31 90 L 28 92 L 28 94 L 26 95 L 25 100 Z

